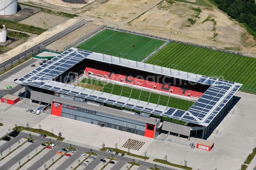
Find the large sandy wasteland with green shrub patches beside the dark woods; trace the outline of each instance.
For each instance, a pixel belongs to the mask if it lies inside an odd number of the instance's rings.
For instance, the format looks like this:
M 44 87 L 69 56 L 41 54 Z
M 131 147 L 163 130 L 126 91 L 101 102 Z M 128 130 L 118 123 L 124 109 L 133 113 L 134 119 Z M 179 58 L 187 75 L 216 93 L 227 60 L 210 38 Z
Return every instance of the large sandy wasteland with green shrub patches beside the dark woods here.
M 187 20 L 193 18 L 196 13 L 191 7 L 200 7 L 202 10 L 199 15 L 200 18 L 196 18 L 194 25 L 191 25 Z M 216 21 L 217 37 L 214 37 L 214 22 L 202 23 L 208 16 Z M 174 4 L 169 4 L 164 1 L 124 28 L 256 56 L 256 43 L 253 37 L 238 22 L 216 7 L 207 8 L 177 1 Z

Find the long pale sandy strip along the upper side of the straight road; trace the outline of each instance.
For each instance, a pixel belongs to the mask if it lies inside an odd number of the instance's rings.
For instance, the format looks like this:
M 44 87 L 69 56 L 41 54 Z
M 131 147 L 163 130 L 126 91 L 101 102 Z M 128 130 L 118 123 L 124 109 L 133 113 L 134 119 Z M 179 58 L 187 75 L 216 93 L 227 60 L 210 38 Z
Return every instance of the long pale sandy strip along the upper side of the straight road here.
M 71 25 L 75 24 L 76 22 L 78 22 L 80 19 L 76 19 L 76 18 L 72 18 L 72 19 L 69 19 L 68 21 L 64 22 L 63 24 L 61 25 L 58 25 L 48 31 L 45 31 L 43 33 L 41 33 L 39 36 L 33 38 L 32 40 L 30 41 L 27 41 L 21 45 L 19 45 L 18 47 L 4 53 L 4 54 L 1 54 L 0 57 L 1 57 L 1 63 L 4 62 L 5 60 L 9 59 L 9 58 L 12 58 L 14 56 L 16 56 L 17 54 L 25 51 L 26 49 L 36 45 L 36 44 L 39 44 L 40 42 L 44 41 L 45 39 L 65 30 L 67 27 L 70 27 Z

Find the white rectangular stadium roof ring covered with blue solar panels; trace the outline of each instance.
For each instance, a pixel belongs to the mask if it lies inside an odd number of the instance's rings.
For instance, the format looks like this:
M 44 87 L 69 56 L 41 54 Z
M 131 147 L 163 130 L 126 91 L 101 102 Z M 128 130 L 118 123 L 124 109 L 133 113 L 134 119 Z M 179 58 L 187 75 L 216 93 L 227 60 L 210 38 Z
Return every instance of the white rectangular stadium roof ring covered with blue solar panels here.
M 187 111 L 166 107 L 146 101 L 113 95 L 79 86 L 53 81 L 53 79 L 84 59 L 100 61 L 109 64 L 166 75 L 191 82 L 211 85 L 206 92 Z M 228 103 L 242 84 L 221 80 L 213 77 L 196 75 L 143 62 L 127 60 L 102 53 L 70 48 L 54 59 L 41 65 L 29 74 L 19 78 L 15 83 L 39 87 L 55 92 L 92 99 L 117 106 L 141 110 L 164 117 L 184 120 L 201 126 L 208 126 L 213 118 Z M 146 89 L 146 88 L 145 88 Z

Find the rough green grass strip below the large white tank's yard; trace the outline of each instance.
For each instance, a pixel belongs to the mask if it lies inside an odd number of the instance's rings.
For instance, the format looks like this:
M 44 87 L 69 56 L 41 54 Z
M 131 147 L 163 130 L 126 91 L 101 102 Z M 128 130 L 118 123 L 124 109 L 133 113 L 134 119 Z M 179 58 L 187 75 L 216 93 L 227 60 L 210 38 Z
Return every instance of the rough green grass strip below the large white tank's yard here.
M 37 34 L 37 35 L 47 31 L 47 29 L 35 27 L 33 25 L 20 24 L 18 22 L 5 20 L 5 19 L 1 19 L 1 18 L 0 18 L 0 22 L 4 23 L 5 27 L 7 29 L 10 28 L 10 29 L 18 30 L 18 31 L 25 31 L 25 32 L 34 33 L 34 34 Z

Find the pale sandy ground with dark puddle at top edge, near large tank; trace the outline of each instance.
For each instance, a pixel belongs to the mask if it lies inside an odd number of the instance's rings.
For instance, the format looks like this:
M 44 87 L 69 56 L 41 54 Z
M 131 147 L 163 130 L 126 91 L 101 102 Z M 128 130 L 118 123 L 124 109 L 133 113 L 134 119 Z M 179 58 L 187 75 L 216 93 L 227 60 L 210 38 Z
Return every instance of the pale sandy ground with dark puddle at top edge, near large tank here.
M 66 2 L 65 2 L 66 1 Z M 61 6 L 61 7 L 67 7 L 67 8 L 82 8 L 83 6 L 85 6 L 86 4 L 89 4 L 91 2 L 93 2 L 95 0 L 22 0 L 22 2 L 29 2 L 29 3 L 35 3 L 35 4 L 42 4 L 44 6 L 52 4 L 52 5 L 56 5 L 56 6 Z M 69 2 L 73 2 L 73 3 L 69 3 Z

